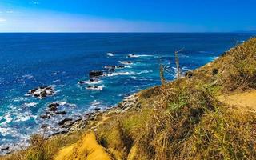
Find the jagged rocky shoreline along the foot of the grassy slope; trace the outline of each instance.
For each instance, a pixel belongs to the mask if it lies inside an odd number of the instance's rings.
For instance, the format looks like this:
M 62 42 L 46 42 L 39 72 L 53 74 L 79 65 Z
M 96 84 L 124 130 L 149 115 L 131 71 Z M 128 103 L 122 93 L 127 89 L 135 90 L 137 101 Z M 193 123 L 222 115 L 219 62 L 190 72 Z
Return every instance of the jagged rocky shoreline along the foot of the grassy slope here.
M 48 105 L 46 113 L 41 114 L 40 118 L 47 120 L 53 118 L 55 115 L 66 115 L 65 111 L 58 111 L 58 107 L 61 107 L 62 104 L 58 102 L 53 102 Z M 87 112 L 86 114 L 79 116 L 78 118 L 69 117 L 62 118 L 57 122 L 58 126 L 50 126 L 49 124 L 42 124 L 41 129 L 38 130 L 38 134 L 42 134 L 45 138 L 51 138 L 59 134 L 69 134 L 76 132 L 78 130 L 93 130 L 95 129 L 95 123 L 98 122 L 98 119 L 107 114 L 120 114 L 130 110 L 132 108 L 139 108 L 140 104 L 138 102 L 138 94 L 131 94 L 123 98 L 122 102 L 119 102 L 117 105 L 111 106 L 106 109 L 95 108 L 93 111 Z M 71 116 L 71 115 L 70 115 Z M 0 148 L 1 154 L 11 154 L 15 150 L 23 150 L 24 146 L 15 145 L 15 146 L 2 146 Z

